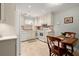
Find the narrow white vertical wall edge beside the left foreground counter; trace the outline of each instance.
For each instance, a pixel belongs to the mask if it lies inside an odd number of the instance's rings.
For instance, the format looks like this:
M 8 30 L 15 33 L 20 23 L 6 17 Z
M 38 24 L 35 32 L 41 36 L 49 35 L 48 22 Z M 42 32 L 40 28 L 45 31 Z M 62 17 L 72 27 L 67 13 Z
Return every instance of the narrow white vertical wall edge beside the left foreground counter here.
M 20 10 L 16 8 L 17 55 L 20 55 Z

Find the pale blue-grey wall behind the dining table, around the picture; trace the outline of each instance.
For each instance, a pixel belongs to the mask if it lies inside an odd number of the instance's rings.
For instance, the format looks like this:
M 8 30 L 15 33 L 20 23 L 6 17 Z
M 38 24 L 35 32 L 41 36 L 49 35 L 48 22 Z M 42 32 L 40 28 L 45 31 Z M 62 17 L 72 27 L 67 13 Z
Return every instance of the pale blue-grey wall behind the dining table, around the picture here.
M 70 16 L 73 17 L 73 23 L 64 24 L 64 18 Z M 73 31 L 77 33 L 76 36 L 79 38 L 79 7 L 54 14 L 54 30 L 55 35 L 60 35 L 64 31 Z

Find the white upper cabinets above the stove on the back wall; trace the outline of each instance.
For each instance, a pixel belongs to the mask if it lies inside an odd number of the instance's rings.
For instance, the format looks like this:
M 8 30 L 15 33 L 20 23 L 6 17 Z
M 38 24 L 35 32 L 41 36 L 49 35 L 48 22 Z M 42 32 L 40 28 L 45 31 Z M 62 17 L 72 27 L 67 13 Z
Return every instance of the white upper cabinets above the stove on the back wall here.
M 37 18 L 37 25 L 41 26 L 42 24 L 53 25 L 53 16 L 52 13 L 40 16 Z

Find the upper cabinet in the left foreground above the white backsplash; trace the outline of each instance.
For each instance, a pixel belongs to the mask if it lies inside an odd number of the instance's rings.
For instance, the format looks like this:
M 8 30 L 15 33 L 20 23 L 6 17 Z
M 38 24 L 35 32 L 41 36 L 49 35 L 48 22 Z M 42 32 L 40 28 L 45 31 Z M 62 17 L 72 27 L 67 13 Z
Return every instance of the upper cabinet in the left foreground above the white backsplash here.
M 16 20 L 16 5 L 1 3 L 1 22 L 14 26 Z

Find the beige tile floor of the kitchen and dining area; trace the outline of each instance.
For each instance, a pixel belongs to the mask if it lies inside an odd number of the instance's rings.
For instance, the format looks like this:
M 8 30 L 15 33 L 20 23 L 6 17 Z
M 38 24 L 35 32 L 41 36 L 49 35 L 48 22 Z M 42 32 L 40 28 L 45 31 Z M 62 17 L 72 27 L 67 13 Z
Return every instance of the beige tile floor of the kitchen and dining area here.
M 79 56 L 79 52 L 74 52 L 75 56 Z M 29 40 L 21 43 L 21 56 L 49 56 L 47 43 L 39 40 Z

